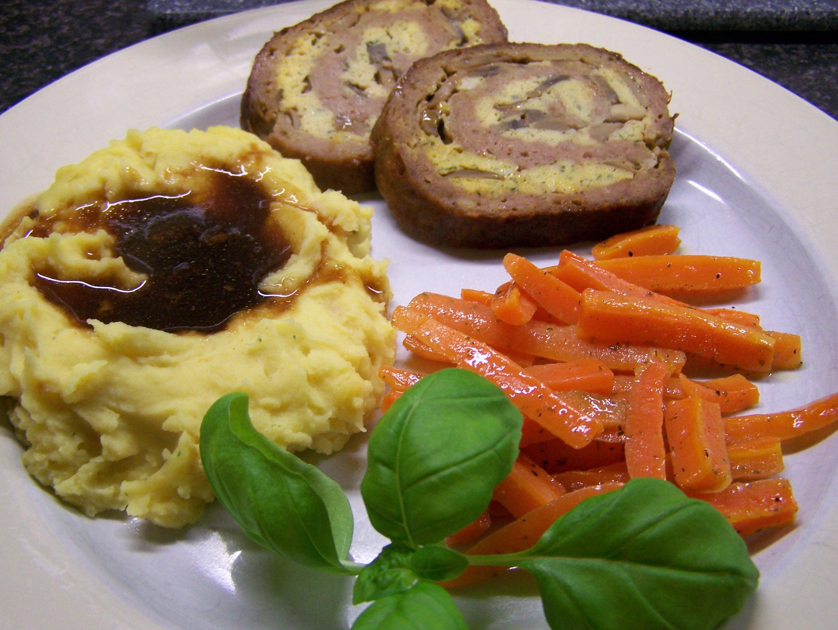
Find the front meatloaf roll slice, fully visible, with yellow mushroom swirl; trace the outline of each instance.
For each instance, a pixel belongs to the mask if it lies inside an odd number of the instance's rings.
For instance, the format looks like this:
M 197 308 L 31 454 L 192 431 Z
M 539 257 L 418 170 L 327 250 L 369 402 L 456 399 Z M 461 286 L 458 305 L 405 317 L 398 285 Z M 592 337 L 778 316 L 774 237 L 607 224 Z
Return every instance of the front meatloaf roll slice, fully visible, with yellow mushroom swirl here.
M 602 239 L 653 222 L 675 178 L 660 81 L 608 50 L 496 44 L 417 61 L 373 130 L 401 226 L 452 247 Z

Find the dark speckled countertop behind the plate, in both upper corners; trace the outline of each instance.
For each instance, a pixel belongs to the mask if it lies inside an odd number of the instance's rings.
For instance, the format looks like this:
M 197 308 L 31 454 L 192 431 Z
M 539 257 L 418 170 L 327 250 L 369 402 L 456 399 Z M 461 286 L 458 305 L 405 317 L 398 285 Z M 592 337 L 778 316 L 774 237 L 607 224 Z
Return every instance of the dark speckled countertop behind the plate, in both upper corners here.
M 491 1 L 491 0 L 489 0 Z M 155 34 L 274 0 L 0 0 L 0 112 Z M 838 0 L 561 0 L 689 39 L 838 117 Z

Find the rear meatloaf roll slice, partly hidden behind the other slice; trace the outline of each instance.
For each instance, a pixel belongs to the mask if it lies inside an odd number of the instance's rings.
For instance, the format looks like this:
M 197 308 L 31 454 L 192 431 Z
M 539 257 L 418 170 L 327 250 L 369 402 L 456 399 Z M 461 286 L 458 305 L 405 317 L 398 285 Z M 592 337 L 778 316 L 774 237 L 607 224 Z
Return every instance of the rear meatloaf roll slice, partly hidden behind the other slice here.
M 396 81 L 441 50 L 506 41 L 485 0 L 349 0 L 256 55 L 241 127 L 303 160 L 322 189 L 375 189 L 370 131 Z

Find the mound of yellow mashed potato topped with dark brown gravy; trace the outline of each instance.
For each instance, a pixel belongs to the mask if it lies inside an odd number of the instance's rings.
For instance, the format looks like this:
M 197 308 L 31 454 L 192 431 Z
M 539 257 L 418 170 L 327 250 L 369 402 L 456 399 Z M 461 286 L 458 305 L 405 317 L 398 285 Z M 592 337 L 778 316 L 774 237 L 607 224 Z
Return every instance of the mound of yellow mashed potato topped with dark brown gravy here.
M 364 429 L 396 339 L 372 211 L 297 160 L 233 128 L 132 131 L 27 211 L 0 250 L 0 396 L 65 501 L 193 522 L 201 419 L 233 391 L 288 450 Z

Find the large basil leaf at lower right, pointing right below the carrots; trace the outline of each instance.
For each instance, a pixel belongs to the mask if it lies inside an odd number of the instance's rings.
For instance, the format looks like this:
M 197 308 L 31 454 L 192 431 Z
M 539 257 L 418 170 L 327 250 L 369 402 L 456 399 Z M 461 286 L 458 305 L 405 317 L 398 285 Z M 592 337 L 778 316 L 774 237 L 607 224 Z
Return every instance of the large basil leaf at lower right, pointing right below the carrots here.
M 562 630 L 710 630 L 759 579 L 722 514 L 657 479 L 583 501 L 519 556 Z

